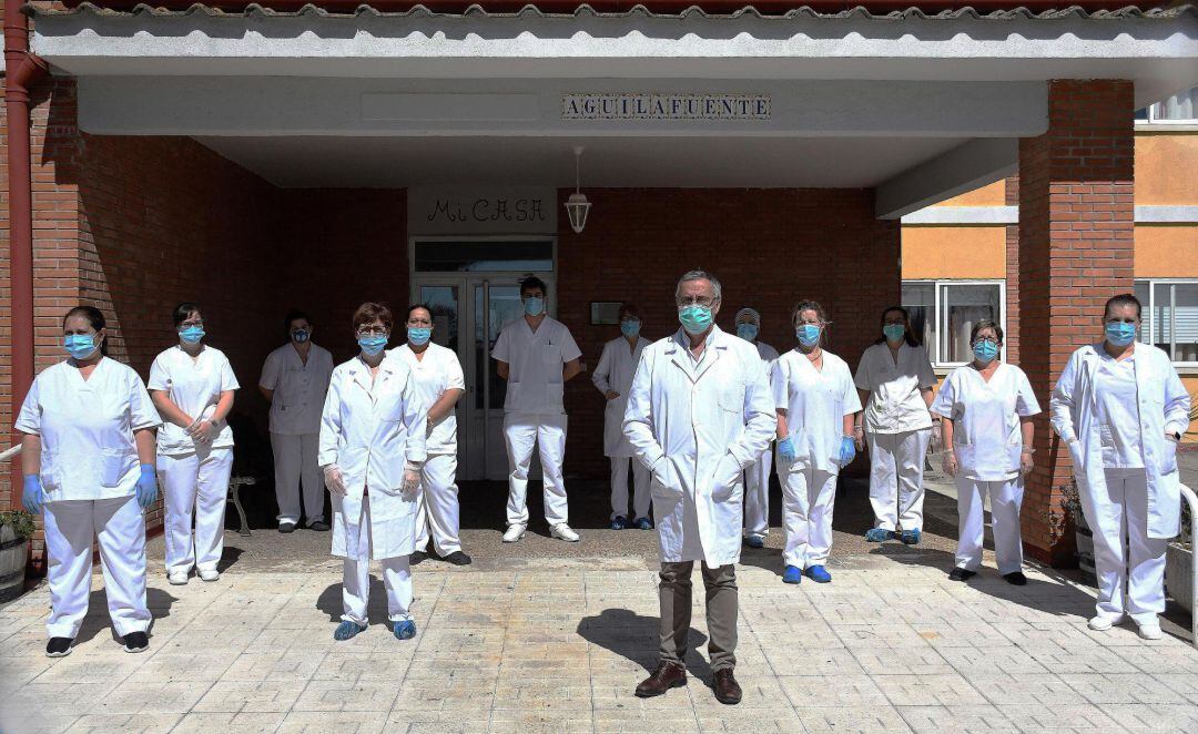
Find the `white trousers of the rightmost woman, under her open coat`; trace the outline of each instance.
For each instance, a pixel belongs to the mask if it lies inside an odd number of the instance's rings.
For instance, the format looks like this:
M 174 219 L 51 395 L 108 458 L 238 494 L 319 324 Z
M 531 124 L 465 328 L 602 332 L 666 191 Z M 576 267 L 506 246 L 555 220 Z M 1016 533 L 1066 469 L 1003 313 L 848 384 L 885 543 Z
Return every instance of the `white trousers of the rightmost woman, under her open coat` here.
M 1102 617 L 1130 614 L 1139 624 L 1151 623 L 1164 611 L 1168 541 L 1148 536 L 1148 475 L 1144 469 L 1107 469 L 1106 479 L 1105 490 L 1081 493 L 1094 532 L 1097 611 Z

